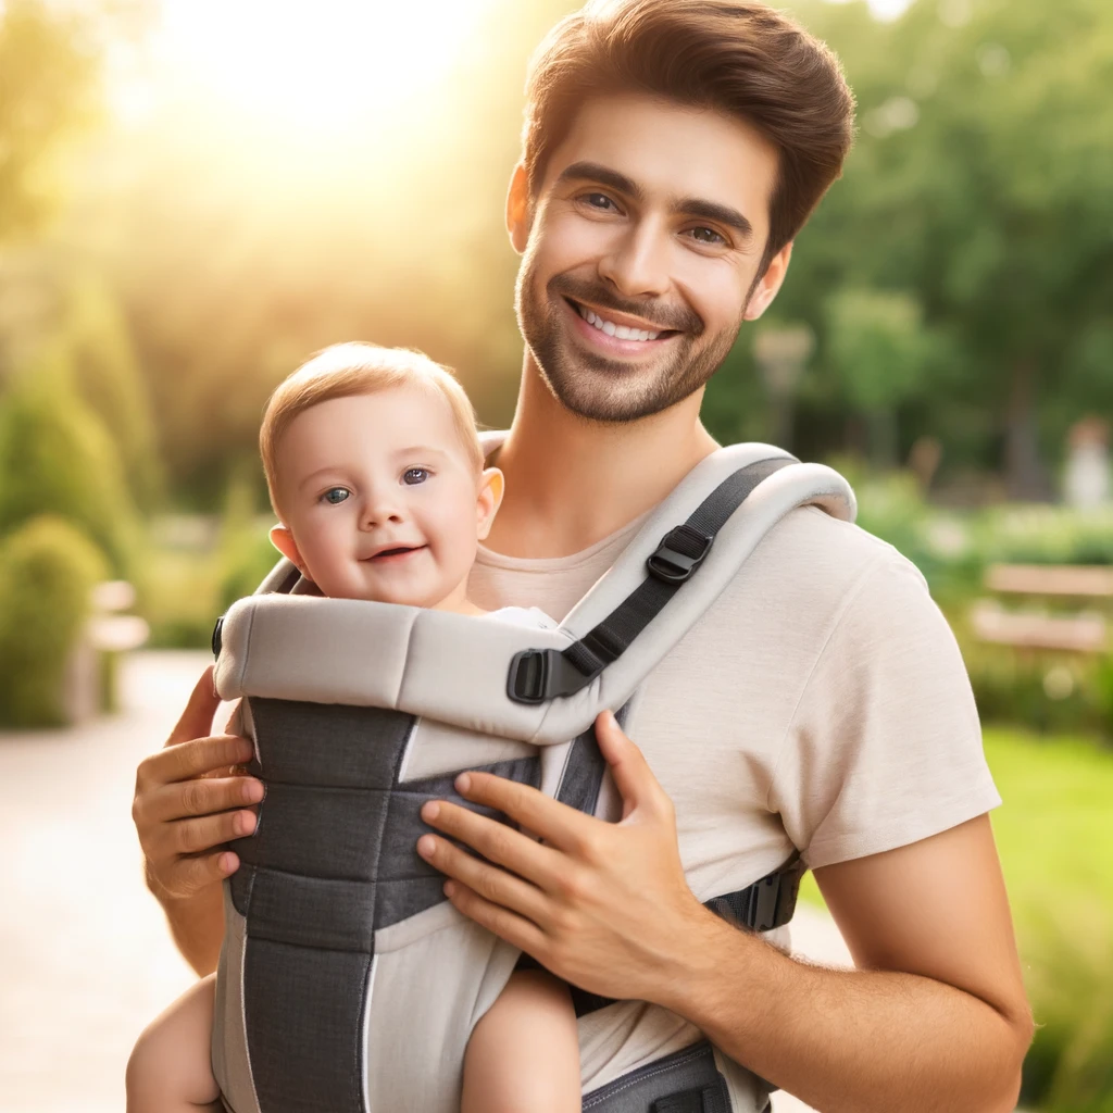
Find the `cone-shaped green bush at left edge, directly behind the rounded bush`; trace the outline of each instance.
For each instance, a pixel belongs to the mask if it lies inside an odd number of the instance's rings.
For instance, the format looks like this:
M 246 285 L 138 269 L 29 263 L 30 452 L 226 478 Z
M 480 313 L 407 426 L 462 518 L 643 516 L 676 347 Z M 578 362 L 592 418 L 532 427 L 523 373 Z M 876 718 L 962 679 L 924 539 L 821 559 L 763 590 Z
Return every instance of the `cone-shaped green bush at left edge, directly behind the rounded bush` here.
M 0 534 L 39 514 L 72 522 L 129 574 L 137 518 L 108 433 L 72 394 L 27 381 L 0 398 Z

